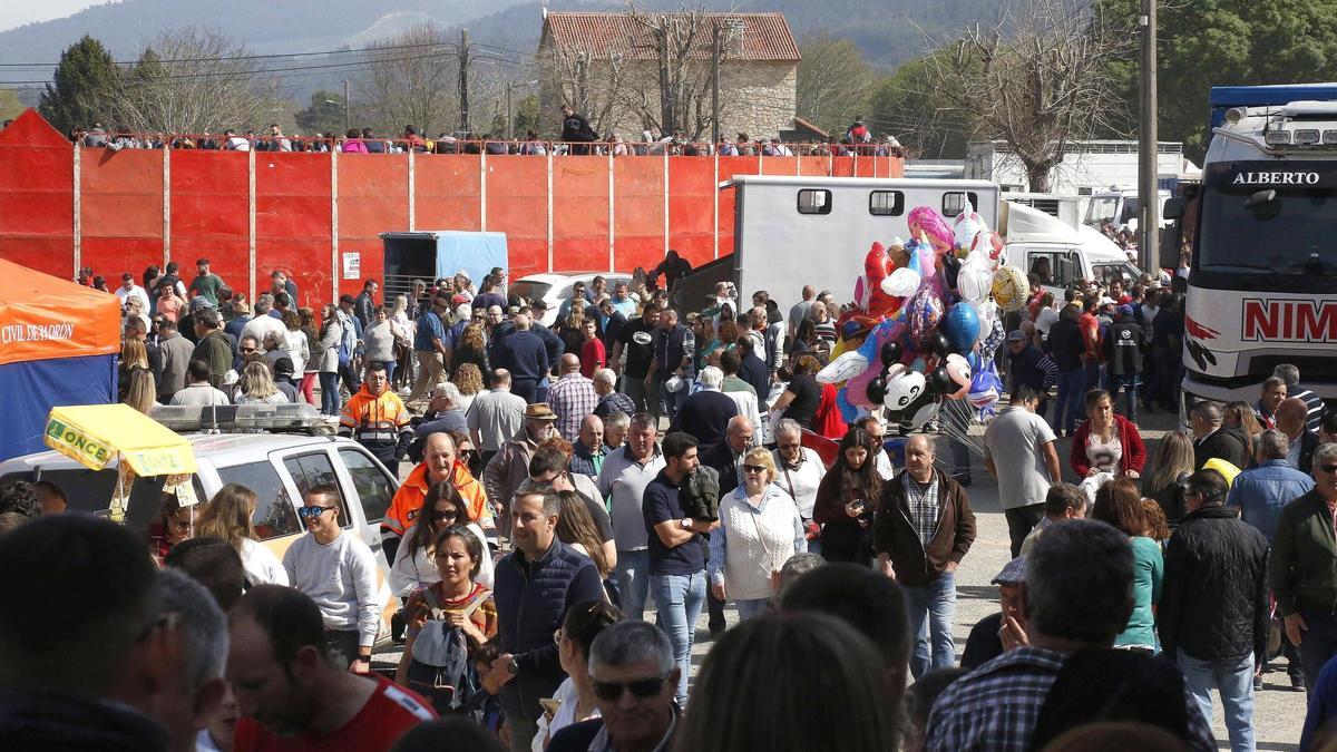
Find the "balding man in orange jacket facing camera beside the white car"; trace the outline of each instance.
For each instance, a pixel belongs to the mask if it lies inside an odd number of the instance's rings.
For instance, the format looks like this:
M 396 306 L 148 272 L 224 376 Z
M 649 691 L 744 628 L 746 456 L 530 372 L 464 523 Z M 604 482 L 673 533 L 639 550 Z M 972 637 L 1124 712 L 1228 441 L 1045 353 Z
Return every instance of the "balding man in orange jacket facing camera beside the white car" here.
M 404 479 L 400 490 L 394 492 L 390 508 L 381 519 L 381 543 L 392 561 L 400 539 L 409 527 L 417 525 L 428 488 L 441 482 L 455 486 L 464 499 L 465 508 L 469 510 L 469 519 L 477 522 L 484 533 L 491 537 L 496 530 L 483 483 L 469 474 L 464 463 L 456 462 L 455 440 L 445 432 L 429 434 L 422 446 L 422 462 Z

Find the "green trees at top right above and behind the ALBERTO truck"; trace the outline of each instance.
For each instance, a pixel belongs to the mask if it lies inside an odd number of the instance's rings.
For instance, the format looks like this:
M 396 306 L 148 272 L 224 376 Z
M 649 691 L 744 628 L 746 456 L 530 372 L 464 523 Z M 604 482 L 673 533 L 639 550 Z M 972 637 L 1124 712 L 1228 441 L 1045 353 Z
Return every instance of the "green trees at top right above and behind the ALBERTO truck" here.
M 1099 4 L 1126 24 L 1140 15 L 1139 0 Z M 1158 135 L 1182 140 L 1190 159 L 1201 159 L 1211 138 L 1211 86 L 1332 80 L 1337 66 L 1337 3 L 1332 0 L 1161 0 L 1157 13 Z M 1135 114 L 1138 64 L 1120 64 L 1116 74 Z

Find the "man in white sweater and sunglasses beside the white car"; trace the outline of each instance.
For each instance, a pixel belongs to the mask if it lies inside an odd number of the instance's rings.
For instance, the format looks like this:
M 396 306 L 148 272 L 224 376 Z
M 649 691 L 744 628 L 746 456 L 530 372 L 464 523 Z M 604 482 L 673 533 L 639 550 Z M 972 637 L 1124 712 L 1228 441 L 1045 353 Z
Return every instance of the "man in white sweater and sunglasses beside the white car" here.
M 372 669 L 372 645 L 381 626 L 376 594 L 376 557 L 357 534 L 344 535 L 340 492 L 317 486 L 306 492 L 297 518 L 306 527 L 283 554 L 293 587 L 321 609 L 330 661 L 353 673 Z

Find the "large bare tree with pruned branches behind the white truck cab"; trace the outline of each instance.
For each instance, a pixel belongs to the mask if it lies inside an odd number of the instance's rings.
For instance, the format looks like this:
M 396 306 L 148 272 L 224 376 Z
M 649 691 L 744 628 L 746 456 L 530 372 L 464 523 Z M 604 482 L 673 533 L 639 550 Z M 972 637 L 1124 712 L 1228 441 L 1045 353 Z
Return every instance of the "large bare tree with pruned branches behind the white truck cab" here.
M 1001 140 L 1025 167 L 1031 190 L 1050 187 L 1050 170 L 1072 140 L 1116 132 L 1127 103 L 1118 96 L 1112 63 L 1135 36 L 1115 28 L 1099 4 L 1023 0 L 1005 5 L 989 28 L 980 24 L 931 55 L 939 95 L 971 114 L 977 136 Z

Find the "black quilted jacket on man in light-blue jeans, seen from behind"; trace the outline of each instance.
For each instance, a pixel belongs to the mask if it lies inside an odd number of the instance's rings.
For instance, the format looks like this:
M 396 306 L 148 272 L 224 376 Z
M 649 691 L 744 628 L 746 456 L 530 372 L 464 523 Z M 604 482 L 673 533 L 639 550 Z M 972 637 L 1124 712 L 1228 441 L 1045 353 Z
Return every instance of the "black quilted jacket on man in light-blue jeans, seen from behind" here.
M 1209 506 L 1183 518 L 1166 550 L 1158 625 L 1166 656 L 1261 660 L 1267 645 L 1267 539 L 1235 510 Z

